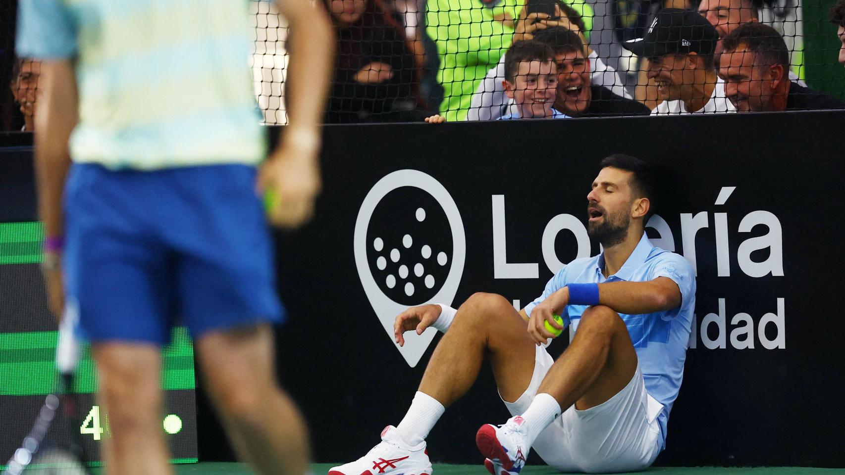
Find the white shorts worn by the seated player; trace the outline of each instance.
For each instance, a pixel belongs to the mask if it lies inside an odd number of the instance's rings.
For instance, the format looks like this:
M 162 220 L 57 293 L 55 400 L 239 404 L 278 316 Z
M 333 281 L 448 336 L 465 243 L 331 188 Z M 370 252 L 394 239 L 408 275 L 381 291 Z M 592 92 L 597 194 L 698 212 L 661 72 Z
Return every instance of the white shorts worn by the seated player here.
M 512 415 L 524 413 L 554 360 L 537 347 L 531 384 L 515 402 L 504 402 Z M 503 400 L 504 401 L 504 400 Z M 628 386 L 595 408 L 575 405 L 543 430 L 532 448 L 543 462 L 561 472 L 636 472 L 651 466 L 660 453 L 657 415 L 663 405 L 646 392 L 640 364 Z

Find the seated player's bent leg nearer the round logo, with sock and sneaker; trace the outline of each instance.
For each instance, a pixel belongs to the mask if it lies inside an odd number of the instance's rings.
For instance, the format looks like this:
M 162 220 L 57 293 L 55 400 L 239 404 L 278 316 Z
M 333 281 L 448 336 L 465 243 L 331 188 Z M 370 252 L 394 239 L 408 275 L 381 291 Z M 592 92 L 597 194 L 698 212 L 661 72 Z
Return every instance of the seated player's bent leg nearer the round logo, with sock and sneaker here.
M 398 427 L 385 428 L 379 445 L 356 462 L 333 467 L 330 475 L 431 473 L 425 438 L 445 408 L 476 381 L 484 356 L 490 358 L 499 394 L 515 401 L 531 383 L 534 354 L 526 322 L 510 302 L 500 295 L 473 294 L 435 348 Z

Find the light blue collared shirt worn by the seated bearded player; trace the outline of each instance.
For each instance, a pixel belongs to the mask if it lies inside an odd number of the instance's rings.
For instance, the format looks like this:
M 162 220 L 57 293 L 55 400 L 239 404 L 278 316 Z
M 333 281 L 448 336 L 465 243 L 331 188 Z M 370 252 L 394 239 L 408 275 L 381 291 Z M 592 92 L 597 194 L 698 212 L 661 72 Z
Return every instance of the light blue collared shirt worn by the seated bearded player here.
M 658 277 L 671 278 L 677 283 L 682 297 L 679 308 L 644 315 L 619 314 L 628 327 L 631 343 L 634 343 L 646 391 L 663 405 L 657 422 L 660 424 L 661 447 L 665 447 L 666 424 L 684 379 L 684 360 L 690 344 L 695 310 L 695 271 L 684 257 L 652 246 L 645 233 L 619 272 L 605 278 L 603 267 L 603 252 L 598 256 L 575 259 L 554 274 L 542 295 L 526 305 L 526 313 L 531 316 L 537 304 L 570 283 L 647 282 Z M 567 305 L 565 315 L 561 316 L 569 321 L 564 323 L 568 325 L 571 322 L 577 332 L 578 321 L 586 308 L 586 305 Z

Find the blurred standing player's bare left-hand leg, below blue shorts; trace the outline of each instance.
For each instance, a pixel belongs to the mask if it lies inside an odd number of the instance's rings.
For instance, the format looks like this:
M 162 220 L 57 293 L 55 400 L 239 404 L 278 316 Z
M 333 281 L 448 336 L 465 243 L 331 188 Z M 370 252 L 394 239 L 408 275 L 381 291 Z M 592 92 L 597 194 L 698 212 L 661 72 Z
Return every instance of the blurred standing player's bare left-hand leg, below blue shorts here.
M 161 348 L 153 343 L 105 342 L 91 347 L 99 402 L 108 414 L 106 472 L 172 473 L 161 429 Z

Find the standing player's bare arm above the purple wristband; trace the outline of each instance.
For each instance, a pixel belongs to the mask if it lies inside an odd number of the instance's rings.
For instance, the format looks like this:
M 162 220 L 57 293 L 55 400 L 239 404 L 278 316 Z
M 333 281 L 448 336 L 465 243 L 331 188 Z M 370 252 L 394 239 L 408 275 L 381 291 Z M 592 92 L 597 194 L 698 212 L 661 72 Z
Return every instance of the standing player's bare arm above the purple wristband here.
M 69 61 L 41 65 L 41 97 L 35 111 L 35 177 L 38 213 L 47 237 L 63 235 L 62 195 L 70 166 L 68 139 L 78 117 L 74 67 Z

